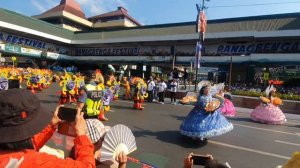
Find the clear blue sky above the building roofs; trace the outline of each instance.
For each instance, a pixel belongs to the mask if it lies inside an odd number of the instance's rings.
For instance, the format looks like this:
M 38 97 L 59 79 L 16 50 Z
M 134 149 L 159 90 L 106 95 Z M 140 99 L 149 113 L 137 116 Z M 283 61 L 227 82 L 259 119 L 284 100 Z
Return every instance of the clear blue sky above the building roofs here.
M 143 24 L 178 23 L 196 20 L 195 4 L 200 0 L 76 0 L 86 16 L 116 10 L 124 6 L 129 14 Z M 0 0 L 0 7 L 25 15 L 37 15 L 56 5 L 60 0 Z M 273 4 L 269 4 L 273 3 Z M 300 12 L 300 0 L 210 0 L 208 19 Z M 268 4 L 253 6 L 237 6 Z M 216 7 L 234 6 L 234 7 Z

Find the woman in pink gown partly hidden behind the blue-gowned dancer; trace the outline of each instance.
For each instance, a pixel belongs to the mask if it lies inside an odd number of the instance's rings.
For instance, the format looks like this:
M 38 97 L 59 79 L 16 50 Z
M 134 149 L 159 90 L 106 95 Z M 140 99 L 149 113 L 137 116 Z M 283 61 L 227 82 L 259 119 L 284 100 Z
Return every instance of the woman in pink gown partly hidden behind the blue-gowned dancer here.
M 226 117 L 234 117 L 236 114 L 236 110 L 231 101 L 231 94 L 229 92 L 224 93 L 222 90 L 222 95 L 224 97 L 224 104 L 221 108 L 221 113 Z

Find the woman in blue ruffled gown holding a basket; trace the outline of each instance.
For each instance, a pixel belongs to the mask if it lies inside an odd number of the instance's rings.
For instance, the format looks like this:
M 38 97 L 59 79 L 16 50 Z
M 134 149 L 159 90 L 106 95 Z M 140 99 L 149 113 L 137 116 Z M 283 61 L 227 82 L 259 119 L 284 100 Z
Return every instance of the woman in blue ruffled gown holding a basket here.
M 221 96 L 217 94 L 214 98 L 211 96 L 209 85 L 203 85 L 195 107 L 180 126 L 181 134 L 193 139 L 205 140 L 231 131 L 233 125 L 227 121 L 219 109 L 222 102 Z

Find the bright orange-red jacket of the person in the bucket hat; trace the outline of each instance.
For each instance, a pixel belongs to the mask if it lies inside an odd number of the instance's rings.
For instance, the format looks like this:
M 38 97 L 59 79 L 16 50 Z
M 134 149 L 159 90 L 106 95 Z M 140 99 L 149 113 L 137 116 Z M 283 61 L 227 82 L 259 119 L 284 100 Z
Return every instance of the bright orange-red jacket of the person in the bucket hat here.
M 95 167 L 94 146 L 86 135 L 78 136 L 74 139 L 75 158 L 59 159 L 56 156 L 46 153 L 39 153 L 38 150 L 45 145 L 51 138 L 55 128 L 48 125 L 40 133 L 32 138 L 35 150 L 21 151 L 0 151 L 0 168 L 4 168 L 10 159 L 18 159 L 21 161 L 19 168 L 23 167 L 39 167 L 39 168 L 77 168 L 77 167 Z

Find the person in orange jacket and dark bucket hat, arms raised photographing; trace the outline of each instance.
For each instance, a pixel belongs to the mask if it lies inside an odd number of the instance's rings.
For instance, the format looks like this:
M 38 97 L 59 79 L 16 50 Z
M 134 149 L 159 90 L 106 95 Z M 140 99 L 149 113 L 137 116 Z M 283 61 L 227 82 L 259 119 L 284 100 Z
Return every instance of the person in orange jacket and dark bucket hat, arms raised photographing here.
M 74 127 L 75 160 L 38 152 L 60 123 L 58 109 L 51 119 L 31 92 L 19 89 L 0 92 L 0 167 L 95 167 L 94 146 L 85 135 L 86 123 L 80 109 Z

